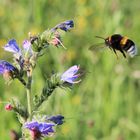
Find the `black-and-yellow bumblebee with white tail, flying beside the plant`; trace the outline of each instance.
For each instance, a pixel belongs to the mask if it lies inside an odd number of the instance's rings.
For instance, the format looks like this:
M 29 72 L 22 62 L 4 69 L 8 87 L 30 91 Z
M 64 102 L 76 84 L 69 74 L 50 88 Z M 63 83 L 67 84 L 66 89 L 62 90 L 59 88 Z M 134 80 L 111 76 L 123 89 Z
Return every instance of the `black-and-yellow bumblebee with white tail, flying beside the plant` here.
M 124 58 L 126 58 L 125 52 L 128 53 L 130 57 L 133 57 L 137 54 L 137 47 L 135 43 L 126 36 L 122 36 L 120 34 L 114 34 L 107 38 L 103 38 L 100 36 L 96 36 L 96 37 L 103 39 L 105 41 L 104 42 L 105 45 L 109 47 L 109 49 L 113 50 L 116 56 L 117 56 L 116 51 L 120 51 L 123 54 Z M 95 46 L 92 45 L 89 49 L 93 50 L 94 47 Z

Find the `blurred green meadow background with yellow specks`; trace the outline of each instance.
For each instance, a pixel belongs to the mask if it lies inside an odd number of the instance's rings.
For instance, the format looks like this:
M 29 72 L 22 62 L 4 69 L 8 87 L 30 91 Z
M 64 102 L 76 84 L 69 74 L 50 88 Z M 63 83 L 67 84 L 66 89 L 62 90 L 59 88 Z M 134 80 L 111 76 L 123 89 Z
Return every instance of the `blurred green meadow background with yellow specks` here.
M 54 140 L 140 140 L 140 57 L 119 59 L 109 50 L 91 52 L 89 46 L 120 33 L 140 46 L 138 0 L 0 0 L 0 59 L 12 62 L 2 47 L 15 38 L 19 44 L 28 32 L 37 34 L 59 22 L 73 19 L 75 28 L 64 33 L 63 48 L 50 48 L 34 72 L 33 94 L 41 91 L 46 75 L 79 64 L 86 75 L 72 90 L 57 89 L 42 105 L 42 113 L 62 114 L 66 122 Z M 9 140 L 10 130 L 20 132 L 13 112 L 4 110 L 11 97 L 26 103 L 18 81 L 9 86 L 0 77 L 0 139 Z

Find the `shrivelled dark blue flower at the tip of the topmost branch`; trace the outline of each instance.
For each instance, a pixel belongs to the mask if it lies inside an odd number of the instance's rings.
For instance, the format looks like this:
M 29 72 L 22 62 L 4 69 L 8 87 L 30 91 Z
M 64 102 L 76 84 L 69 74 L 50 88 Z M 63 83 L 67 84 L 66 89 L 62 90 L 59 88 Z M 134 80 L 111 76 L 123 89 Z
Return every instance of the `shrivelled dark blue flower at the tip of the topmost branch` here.
M 65 31 L 65 32 L 67 32 L 68 30 L 70 30 L 70 29 L 73 28 L 73 27 L 74 27 L 74 22 L 73 22 L 73 20 L 67 20 L 67 21 L 64 21 L 64 22 L 62 22 L 62 23 L 56 25 L 56 26 L 52 29 L 52 31 L 55 31 L 56 29 L 61 29 L 61 30 Z

